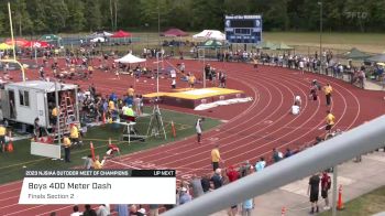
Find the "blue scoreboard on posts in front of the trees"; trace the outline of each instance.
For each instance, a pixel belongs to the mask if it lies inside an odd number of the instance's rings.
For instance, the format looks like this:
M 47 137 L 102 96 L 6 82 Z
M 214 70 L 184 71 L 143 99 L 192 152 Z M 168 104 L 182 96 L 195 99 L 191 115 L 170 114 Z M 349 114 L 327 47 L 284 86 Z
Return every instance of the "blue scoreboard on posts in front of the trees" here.
M 261 15 L 226 15 L 226 40 L 230 43 L 260 44 L 262 41 Z

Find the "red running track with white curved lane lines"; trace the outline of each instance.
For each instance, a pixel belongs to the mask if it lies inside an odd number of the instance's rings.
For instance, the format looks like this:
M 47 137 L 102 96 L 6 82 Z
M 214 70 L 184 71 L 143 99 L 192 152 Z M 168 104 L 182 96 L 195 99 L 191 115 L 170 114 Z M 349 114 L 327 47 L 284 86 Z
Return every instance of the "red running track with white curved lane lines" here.
M 169 61 L 168 64 L 176 65 L 179 62 Z M 202 63 L 184 62 L 187 71 L 199 72 L 202 68 Z M 118 158 L 109 161 L 107 168 L 176 169 L 178 180 L 188 180 L 193 174 L 211 171 L 210 151 L 215 143 L 221 145 L 226 166 L 238 165 L 245 160 L 255 163 L 260 156 L 270 158 L 273 148 L 283 152 L 286 148 L 299 148 L 324 132 L 319 129 L 324 126 L 328 109 L 324 98 L 321 95 L 318 101 L 307 99 L 310 82 L 315 78 L 322 84 L 330 83 L 334 89 L 331 110 L 337 117 L 336 128 L 354 128 L 383 115 L 385 110 L 384 93 L 362 90 L 330 77 L 310 73 L 300 75 L 296 71 L 270 66 L 260 66 L 256 72 L 252 65 L 240 63 L 212 62 L 211 65 L 227 71 L 229 88 L 242 89 L 254 100 L 209 111 L 173 108 L 223 119 L 226 122 L 205 131 L 202 144 L 197 144 L 194 137 Z M 29 76 L 35 77 L 31 72 Z M 116 79 L 114 75 L 96 72 L 92 82 L 99 91 L 109 93 L 113 89 L 121 95 L 133 80 L 123 76 Z M 87 85 L 84 82 L 77 83 L 80 86 Z M 154 91 L 154 83 L 153 79 L 141 78 L 136 83 L 136 89 L 140 93 Z M 179 82 L 178 87 L 185 87 L 182 85 L 186 84 Z M 167 89 L 169 80 L 162 79 L 161 90 Z M 299 116 L 289 115 L 295 95 L 302 98 Z M 0 185 L 0 210 L 6 215 L 47 215 L 54 210 L 58 215 L 68 215 L 72 212 L 72 206 L 68 205 L 18 205 L 21 183 Z

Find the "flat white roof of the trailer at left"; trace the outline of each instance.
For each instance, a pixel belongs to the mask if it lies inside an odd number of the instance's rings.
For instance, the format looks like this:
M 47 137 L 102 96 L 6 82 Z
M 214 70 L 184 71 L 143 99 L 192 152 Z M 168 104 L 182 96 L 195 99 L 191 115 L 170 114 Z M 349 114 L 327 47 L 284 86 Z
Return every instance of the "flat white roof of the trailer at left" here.
M 56 84 L 58 90 L 68 90 L 68 89 L 75 89 L 76 85 L 73 84 Z M 20 83 L 10 83 L 7 84 L 9 87 L 19 87 L 19 88 L 29 88 L 29 89 L 36 89 L 36 90 L 43 90 L 47 93 L 55 91 L 55 83 L 53 82 L 43 82 L 43 80 L 28 80 L 28 82 L 20 82 Z M 62 88 L 61 88 L 62 87 Z

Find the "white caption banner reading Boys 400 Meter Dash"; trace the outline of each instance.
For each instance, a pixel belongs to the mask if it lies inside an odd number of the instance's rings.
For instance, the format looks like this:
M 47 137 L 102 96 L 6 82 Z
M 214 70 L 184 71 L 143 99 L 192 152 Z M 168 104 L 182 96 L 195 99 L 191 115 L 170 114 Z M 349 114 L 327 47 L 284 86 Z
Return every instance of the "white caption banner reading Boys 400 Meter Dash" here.
M 26 170 L 19 204 L 175 204 L 175 170 Z

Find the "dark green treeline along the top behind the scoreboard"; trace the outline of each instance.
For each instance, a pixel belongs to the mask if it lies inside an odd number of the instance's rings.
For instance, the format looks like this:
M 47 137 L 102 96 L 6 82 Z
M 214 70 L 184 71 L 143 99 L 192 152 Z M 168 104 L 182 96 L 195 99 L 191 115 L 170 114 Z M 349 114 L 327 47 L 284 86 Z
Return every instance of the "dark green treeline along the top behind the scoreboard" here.
M 11 8 L 15 35 L 155 31 L 158 11 L 162 30 L 223 30 L 224 14 L 262 14 L 265 31 L 318 31 L 319 1 L 324 31 L 385 31 L 385 0 L 12 0 Z M 0 2 L 0 34 L 9 35 Z

